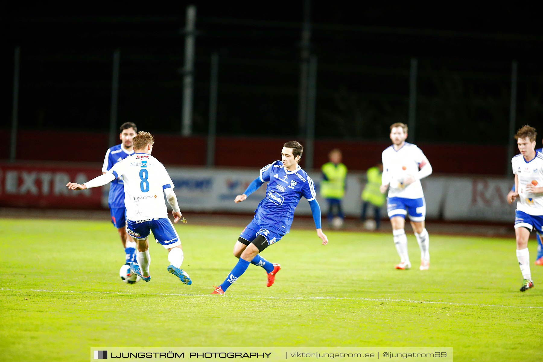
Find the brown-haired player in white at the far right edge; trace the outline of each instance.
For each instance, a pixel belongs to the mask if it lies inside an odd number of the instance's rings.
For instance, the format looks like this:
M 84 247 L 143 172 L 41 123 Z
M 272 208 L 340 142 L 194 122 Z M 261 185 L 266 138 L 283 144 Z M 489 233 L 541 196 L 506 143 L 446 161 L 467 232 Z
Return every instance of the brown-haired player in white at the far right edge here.
M 511 160 L 518 192 L 509 193 L 507 201 L 511 204 L 518 199 L 515 212 L 516 258 L 524 278 L 520 291 L 534 287 L 528 239 L 534 227 L 536 231 L 543 230 L 543 155 L 535 150 L 536 136 L 535 128 L 529 125 L 519 129 L 515 139 L 520 154 Z

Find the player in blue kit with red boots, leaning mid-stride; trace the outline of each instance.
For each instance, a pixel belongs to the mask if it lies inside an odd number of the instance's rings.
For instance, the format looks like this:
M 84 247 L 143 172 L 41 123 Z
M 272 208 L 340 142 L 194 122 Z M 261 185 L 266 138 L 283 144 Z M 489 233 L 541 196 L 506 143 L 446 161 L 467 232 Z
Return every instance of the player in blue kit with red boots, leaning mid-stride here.
M 255 210 L 255 217 L 244 228 L 234 245 L 233 254 L 239 258 L 238 263 L 226 277 L 226 280 L 211 294 L 224 294 L 244 272 L 249 264 L 262 266 L 268 273 L 268 287 L 275 281 L 275 275 L 281 270 L 281 265 L 272 264 L 258 255 L 266 247 L 276 242 L 289 232 L 294 218 L 294 210 L 301 197 L 304 196 L 311 206 L 317 236 L 328 244 L 328 238 L 320 228 L 320 206 L 315 200 L 315 185 L 307 173 L 298 166 L 304 148 L 297 141 L 283 144 L 281 161 L 275 161 L 260 170 L 242 195 L 236 196 L 236 203 L 247 197 L 268 182 L 266 196 Z

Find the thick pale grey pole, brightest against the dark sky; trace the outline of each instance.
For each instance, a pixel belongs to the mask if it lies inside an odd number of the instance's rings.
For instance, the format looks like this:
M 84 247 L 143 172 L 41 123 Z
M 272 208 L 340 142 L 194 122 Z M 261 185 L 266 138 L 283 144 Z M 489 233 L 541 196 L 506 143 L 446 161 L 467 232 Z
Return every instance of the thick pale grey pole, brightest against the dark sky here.
M 194 90 L 194 43 L 196 7 L 187 7 L 185 22 L 185 67 L 183 69 L 183 110 L 181 116 L 181 135 L 192 135 L 192 98 Z

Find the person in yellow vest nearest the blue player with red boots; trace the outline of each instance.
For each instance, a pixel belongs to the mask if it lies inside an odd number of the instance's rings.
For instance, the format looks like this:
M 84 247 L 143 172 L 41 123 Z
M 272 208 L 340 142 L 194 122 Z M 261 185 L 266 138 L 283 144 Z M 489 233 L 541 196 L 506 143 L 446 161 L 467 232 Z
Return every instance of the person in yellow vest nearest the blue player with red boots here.
M 331 150 L 328 158 L 330 162 L 326 162 L 321 167 L 323 181 L 320 183 L 320 195 L 328 202 L 328 223 L 334 228 L 338 228 L 343 225 L 345 219 L 341 201 L 345 195 L 347 167 L 341 163 L 342 153 L 339 149 Z M 334 217 L 337 217 L 338 219 L 335 220 L 338 221 L 335 221 Z M 334 221 L 332 222 L 332 220 Z

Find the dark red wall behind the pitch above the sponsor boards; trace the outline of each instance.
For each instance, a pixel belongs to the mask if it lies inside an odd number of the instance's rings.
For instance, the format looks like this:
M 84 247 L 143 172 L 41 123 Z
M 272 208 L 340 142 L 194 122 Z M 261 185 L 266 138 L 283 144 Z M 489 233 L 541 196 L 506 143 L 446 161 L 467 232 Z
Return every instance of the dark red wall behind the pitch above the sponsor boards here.
M 281 157 L 281 147 L 287 138 L 217 137 L 215 164 L 218 167 L 261 168 Z M 304 144 L 304 139 L 299 139 Z M 206 142 L 203 136 L 182 137 L 155 135 L 153 155 L 166 165 L 205 166 Z M 328 161 L 333 148 L 343 151 L 343 162 L 350 170 L 366 170 L 381 160 L 388 142 L 359 142 L 317 140 L 314 143 L 314 165 Z M 504 175 L 507 167 L 507 147 L 460 144 L 419 143 L 430 160 L 434 173 Z M 102 163 L 108 149 L 108 134 L 73 131 L 18 132 L 17 161 L 93 162 Z M 9 130 L 0 131 L 1 159 L 9 158 Z M 301 166 L 304 167 L 304 157 Z M 99 172 L 99 170 L 98 170 Z

